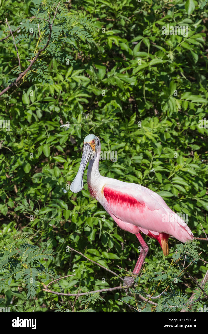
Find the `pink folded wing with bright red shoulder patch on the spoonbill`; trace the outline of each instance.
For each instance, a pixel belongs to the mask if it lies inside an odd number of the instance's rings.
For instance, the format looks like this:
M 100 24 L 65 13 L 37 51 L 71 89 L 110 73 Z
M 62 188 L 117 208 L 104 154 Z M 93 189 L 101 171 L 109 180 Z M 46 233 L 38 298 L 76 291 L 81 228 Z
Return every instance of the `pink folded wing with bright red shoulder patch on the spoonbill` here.
M 106 185 L 102 203 L 122 229 L 135 234 L 141 230 L 153 237 L 166 233 L 182 242 L 193 239 L 190 228 L 160 195 L 135 183 L 122 183 Z

